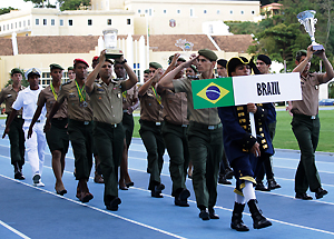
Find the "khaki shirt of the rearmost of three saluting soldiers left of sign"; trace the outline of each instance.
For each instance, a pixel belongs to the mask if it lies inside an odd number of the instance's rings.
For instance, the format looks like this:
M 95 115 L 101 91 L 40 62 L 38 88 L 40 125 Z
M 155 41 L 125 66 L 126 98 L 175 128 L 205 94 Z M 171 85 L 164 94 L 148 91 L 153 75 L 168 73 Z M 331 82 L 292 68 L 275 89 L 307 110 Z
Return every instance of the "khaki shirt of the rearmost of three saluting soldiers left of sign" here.
M 154 90 L 151 87 L 146 91 L 146 93 L 139 97 L 140 100 L 140 119 L 161 122 L 163 118 L 163 106 L 158 102 Z

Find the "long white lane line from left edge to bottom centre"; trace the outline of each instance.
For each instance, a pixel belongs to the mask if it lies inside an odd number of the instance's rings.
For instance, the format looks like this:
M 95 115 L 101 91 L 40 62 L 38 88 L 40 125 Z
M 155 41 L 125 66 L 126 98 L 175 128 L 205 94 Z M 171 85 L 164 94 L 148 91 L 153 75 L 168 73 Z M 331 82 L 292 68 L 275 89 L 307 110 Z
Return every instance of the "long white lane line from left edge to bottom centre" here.
M 180 237 L 180 236 L 178 236 L 178 235 L 175 235 L 175 233 L 165 231 L 165 230 L 163 230 L 163 229 L 159 229 L 159 228 L 156 228 L 156 227 L 153 227 L 153 226 L 149 226 L 149 225 L 141 223 L 141 222 L 139 222 L 139 221 L 135 221 L 135 220 L 132 220 L 132 219 L 128 219 L 128 218 L 121 217 L 121 216 L 116 215 L 116 213 L 112 213 L 112 212 L 110 212 L 110 211 L 107 211 L 107 210 L 104 210 L 104 209 L 100 209 L 100 208 L 96 208 L 96 207 L 92 207 L 92 206 L 89 206 L 89 205 L 84 205 L 82 202 L 79 202 L 79 201 L 76 201 L 76 200 L 73 200 L 73 199 L 70 199 L 70 198 L 66 198 L 66 197 L 56 195 L 55 192 L 48 191 L 48 190 L 46 190 L 46 189 L 37 188 L 37 187 L 35 187 L 35 186 L 31 186 L 31 185 L 28 185 L 28 183 L 26 183 L 26 182 L 22 182 L 22 181 L 19 181 L 19 180 L 9 178 L 9 177 L 3 176 L 3 175 L 1 175 L 1 173 L 0 173 L 0 177 L 6 178 L 6 179 L 9 179 L 9 180 L 14 181 L 14 182 L 19 182 L 19 183 L 21 183 L 21 185 L 28 186 L 28 187 L 30 187 L 30 188 L 33 188 L 33 189 L 37 189 L 37 190 L 40 190 L 40 191 L 43 191 L 43 192 L 49 193 L 49 195 L 51 195 L 51 196 L 53 196 L 53 197 L 59 197 L 59 198 L 61 198 L 61 199 L 66 199 L 66 200 L 68 200 L 68 201 L 70 201 L 70 202 L 73 202 L 73 203 L 76 203 L 76 205 L 80 205 L 80 206 L 82 206 L 82 207 L 87 207 L 87 208 L 90 208 L 90 209 L 92 209 L 92 210 L 96 210 L 96 211 L 99 211 L 99 212 L 102 212 L 102 213 L 106 213 L 106 215 L 110 215 L 110 216 L 112 216 L 112 217 L 115 217 L 115 218 L 118 218 L 118 219 L 121 219 L 121 220 L 125 220 L 125 221 L 128 221 L 128 222 L 131 222 L 131 223 L 141 226 L 141 227 L 144 227 L 144 228 L 147 228 L 147 229 L 150 229 L 150 230 L 154 230 L 154 231 L 158 231 L 158 232 L 160 232 L 160 233 L 168 235 L 168 236 L 171 236 L 171 237 L 175 237 L 175 238 L 186 239 L 186 238 Z M 27 237 L 27 239 L 28 239 L 28 237 Z

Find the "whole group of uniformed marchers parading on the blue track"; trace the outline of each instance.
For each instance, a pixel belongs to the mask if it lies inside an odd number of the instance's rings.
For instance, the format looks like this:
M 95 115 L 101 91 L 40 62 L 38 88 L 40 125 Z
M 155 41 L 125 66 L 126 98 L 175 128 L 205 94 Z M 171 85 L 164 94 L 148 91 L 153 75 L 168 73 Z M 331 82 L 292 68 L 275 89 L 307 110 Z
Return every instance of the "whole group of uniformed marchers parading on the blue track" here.
M 326 73 L 308 72 L 313 54 L 323 60 Z M 26 152 L 33 185 L 45 186 L 41 175 L 48 143 L 56 177 L 55 190 L 58 195 L 66 195 L 62 173 L 70 140 L 78 180 L 76 197 L 81 202 L 94 198 L 87 183 L 94 156 L 95 182 L 105 183 L 106 208 L 118 210 L 121 203 L 118 188 L 128 190 L 134 186 L 128 173 L 128 149 L 135 125 L 132 112 L 140 101 L 139 135 L 147 151 L 151 197 L 163 198 L 165 186 L 160 173 L 167 148 L 171 196 L 176 206 L 189 207 L 187 199 L 190 191 L 186 187 L 186 178 L 189 177 L 199 218 L 219 219 L 214 209 L 217 183 L 230 185 L 228 179 L 234 176 L 235 205 L 230 227 L 237 231 L 249 230 L 242 220 L 246 205 L 255 229 L 272 226 L 258 209 L 255 190 L 281 188 L 274 178 L 271 158 L 274 155 L 275 104 L 249 102 L 245 106 L 195 109 L 191 89 L 193 80 L 224 80 L 226 77 L 249 76 L 252 71 L 268 74 L 269 57 L 259 54 L 256 63 L 254 58 L 247 60 L 244 57 L 227 61 L 218 60 L 212 50 L 202 49 L 189 60 L 175 53 L 168 63 L 169 67 L 164 70 L 158 62 L 150 62 L 139 89 L 137 76 L 124 56 L 110 60 L 105 50 L 92 59 L 94 71 L 89 74 L 88 62 L 75 59 L 73 67 L 68 68 L 70 80 L 63 84 L 63 68 L 50 64 L 52 82 L 45 89 L 39 86 L 41 72 L 37 68 L 24 73 L 29 82 L 26 89 L 21 86 L 23 73 L 18 68 L 12 69 L 12 84 L 1 91 L 0 102 L 6 102 L 8 118 L 2 138 L 8 135 L 10 139 L 14 178 L 24 179 L 22 166 Z M 117 78 L 112 76 L 112 69 Z M 312 199 L 306 195 L 310 188 L 320 199 L 327 191 L 321 186 L 314 157 L 320 133 L 318 84 L 330 81 L 334 72 L 325 52 L 315 52 L 312 46 L 307 51 L 297 52 L 294 71 L 301 73 L 303 94 L 303 100 L 289 102 L 287 107 L 301 149 L 295 198 Z M 254 114 L 256 137 L 250 133 L 249 113 Z M 263 183 L 265 175 L 267 187 Z

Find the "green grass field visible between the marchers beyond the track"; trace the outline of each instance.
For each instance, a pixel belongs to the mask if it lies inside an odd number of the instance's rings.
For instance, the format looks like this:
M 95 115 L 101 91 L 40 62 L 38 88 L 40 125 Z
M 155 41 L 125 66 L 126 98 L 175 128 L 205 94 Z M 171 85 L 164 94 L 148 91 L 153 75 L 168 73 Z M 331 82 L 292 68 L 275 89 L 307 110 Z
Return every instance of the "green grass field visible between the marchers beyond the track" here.
M 321 110 L 321 136 L 317 151 L 334 152 L 334 110 Z M 139 117 L 135 117 L 134 137 L 139 137 Z M 274 147 L 277 149 L 298 149 L 296 138 L 291 128 L 292 117 L 286 111 L 277 111 Z

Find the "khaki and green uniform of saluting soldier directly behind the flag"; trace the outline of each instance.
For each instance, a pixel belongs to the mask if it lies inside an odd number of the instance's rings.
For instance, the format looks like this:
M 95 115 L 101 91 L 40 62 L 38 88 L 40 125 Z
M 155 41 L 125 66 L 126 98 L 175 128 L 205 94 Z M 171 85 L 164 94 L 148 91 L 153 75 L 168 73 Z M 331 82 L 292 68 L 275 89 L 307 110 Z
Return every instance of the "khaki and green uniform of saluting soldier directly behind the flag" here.
M 199 80 L 203 77 L 199 76 Z M 191 79 L 173 80 L 175 92 L 186 92 L 188 99 L 188 143 L 194 165 L 193 186 L 197 207 L 210 212 L 217 200 L 217 177 L 223 156 L 223 129 L 216 108 L 194 109 Z

